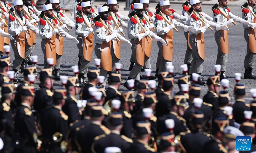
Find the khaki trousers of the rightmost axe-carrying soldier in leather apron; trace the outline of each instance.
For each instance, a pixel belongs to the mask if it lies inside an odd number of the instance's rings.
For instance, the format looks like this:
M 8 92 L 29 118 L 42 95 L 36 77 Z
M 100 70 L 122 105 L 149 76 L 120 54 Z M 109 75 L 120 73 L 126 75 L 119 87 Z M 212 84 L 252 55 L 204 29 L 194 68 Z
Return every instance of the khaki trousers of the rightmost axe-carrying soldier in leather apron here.
M 256 62 L 256 53 L 252 53 L 249 48 L 249 29 L 244 29 L 244 39 L 247 43 L 247 51 L 244 58 L 244 68 L 253 68 Z

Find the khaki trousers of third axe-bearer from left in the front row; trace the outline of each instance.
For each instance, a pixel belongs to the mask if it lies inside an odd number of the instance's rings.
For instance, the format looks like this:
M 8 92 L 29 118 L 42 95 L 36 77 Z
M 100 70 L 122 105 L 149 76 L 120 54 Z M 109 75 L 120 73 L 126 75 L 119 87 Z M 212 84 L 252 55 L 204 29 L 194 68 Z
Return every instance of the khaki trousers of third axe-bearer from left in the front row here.
M 78 50 L 79 50 L 79 54 L 82 55 L 81 57 L 81 66 L 80 66 L 80 69 L 79 69 L 79 73 L 82 73 L 84 74 L 84 77 L 87 77 L 87 71 L 88 71 L 88 68 L 89 68 L 89 65 L 90 65 L 90 61 L 87 61 L 84 56 L 83 56 L 83 43 L 84 43 L 84 40 L 81 36 L 78 36 L 77 37 L 77 40 L 79 41 L 79 43 L 76 45 L 78 47 Z

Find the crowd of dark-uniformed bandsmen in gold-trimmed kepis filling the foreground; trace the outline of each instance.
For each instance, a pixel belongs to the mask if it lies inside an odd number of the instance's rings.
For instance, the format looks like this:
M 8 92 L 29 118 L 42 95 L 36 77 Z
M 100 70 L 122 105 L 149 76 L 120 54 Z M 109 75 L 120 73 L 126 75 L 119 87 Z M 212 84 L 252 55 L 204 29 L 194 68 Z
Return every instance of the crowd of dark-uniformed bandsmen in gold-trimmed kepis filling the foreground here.
M 168 72 L 159 74 L 157 88 L 153 80 L 137 84 L 128 80 L 131 90 L 122 93 L 118 92 L 120 73 L 110 74 L 105 91 L 100 70 L 91 69 L 89 82 L 80 91 L 82 100 L 77 100 L 78 77 L 62 77 L 63 87 L 52 89 L 52 69 L 41 69 L 41 88 L 34 93 L 36 66 L 25 68 L 25 80 L 15 89 L 10 65 L 10 57 L 1 57 L 3 152 L 231 153 L 238 135 L 251 136 L 255 151 L 256 101 L 245 104 L 241 74 L 235 76 L 236 102 L 232 105 L 229 82 L 223 79 L 224 90 L 220 91 L 219 75 L 208 78 L 209 91 L 203 100 L 196 85 L 199 76 L 192 74 L 190 82 L 188 75 L 182 75 L 177 81 L 180 91 L 172 98 L 170 66 Z M 218 73 L 219 66 L 215 68 Z M 133 90 L 138 91 L 136 96 Z M 255 90 L 251 90 L 254 99 Z

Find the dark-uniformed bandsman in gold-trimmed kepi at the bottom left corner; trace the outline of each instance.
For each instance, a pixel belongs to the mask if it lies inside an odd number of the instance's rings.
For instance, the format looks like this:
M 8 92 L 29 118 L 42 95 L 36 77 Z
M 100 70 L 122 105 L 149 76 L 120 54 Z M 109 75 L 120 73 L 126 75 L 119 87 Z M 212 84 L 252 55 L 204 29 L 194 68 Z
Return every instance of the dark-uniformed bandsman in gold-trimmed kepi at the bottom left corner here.
M 1 90 L 0 120 L 1 120 L 1 138 L 4 141 L 2 152 L 11 153 L 14 151 L 12 147 L 12 137 L 14 135 L 13 113 L 11 111 L 11 102 L 14 101 L 15 90 L 14 84 L 3 83 Z

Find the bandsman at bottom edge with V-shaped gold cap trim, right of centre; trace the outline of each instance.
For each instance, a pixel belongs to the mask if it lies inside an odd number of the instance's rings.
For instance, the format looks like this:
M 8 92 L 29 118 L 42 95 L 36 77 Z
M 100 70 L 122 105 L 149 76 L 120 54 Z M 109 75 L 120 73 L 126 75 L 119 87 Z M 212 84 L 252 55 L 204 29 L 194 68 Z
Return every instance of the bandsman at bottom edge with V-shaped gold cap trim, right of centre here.
M 141 121 L 136 124 L 136 140 L 127 149 L 127 152 L 134 153 L 151 153 L 156 152 L 154 148 L 148 146 L 148 142 L 151 140 L 150 122 Z

